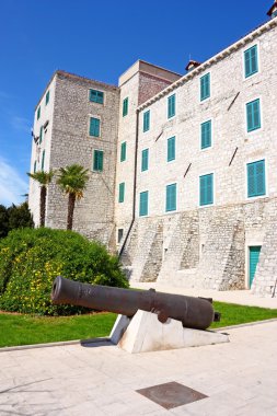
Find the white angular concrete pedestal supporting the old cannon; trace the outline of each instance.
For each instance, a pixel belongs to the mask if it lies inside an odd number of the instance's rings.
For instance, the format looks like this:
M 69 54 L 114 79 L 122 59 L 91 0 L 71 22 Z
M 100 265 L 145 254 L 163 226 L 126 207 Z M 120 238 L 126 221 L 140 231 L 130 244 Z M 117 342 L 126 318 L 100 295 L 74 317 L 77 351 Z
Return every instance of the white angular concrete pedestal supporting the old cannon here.
M 139 310 L 119 339 L 118 347 L 136 354 L 228 342 L 228 335 L 212 331 L 184 328 L 180 321 L 172 319 L 162 324 L 158 321 L 157 314 Z

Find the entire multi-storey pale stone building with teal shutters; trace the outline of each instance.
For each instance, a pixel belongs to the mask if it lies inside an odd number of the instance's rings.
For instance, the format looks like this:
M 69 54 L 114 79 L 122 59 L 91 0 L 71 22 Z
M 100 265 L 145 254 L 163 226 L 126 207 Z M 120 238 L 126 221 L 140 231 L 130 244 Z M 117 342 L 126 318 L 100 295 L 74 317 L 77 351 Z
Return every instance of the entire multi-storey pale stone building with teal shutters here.
M 32 171 L 90 169 L 74 230 L 117 250 L 134 281 L 272 296 L 277 276 L 277 2 L 269 20 L 186 74 L 137 61 L 117 86 L 55 72 Z M 38 222 L 38 186 L 30 206 Z M 66 227 L 48 190 L 46 224 Z

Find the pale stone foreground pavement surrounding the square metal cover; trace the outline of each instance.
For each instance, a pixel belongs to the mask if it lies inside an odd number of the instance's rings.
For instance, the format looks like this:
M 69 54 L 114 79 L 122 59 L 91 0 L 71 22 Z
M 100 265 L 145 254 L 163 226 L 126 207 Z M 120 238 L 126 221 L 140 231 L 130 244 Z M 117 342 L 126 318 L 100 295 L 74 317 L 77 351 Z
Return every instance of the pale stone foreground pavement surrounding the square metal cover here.
M 0 415 L 277 415 L 277 322 L 229 344 L 129 355 L 116 346 L 0 350 Z M 165 411 L 136 390 L 176 381 L 208 397 Z

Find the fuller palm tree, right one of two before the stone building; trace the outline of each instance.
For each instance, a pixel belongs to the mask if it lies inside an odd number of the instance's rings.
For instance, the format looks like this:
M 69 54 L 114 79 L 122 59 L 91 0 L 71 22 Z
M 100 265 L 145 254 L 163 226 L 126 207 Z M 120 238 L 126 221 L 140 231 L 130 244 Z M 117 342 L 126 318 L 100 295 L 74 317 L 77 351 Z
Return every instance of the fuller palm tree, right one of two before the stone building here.
M 71 164 L 59 170 L 57 184 L 68 195 L 67 230 L 72 230 L 76 199 L 83 197 L 88 181 L 89 170 L 80 164 Z

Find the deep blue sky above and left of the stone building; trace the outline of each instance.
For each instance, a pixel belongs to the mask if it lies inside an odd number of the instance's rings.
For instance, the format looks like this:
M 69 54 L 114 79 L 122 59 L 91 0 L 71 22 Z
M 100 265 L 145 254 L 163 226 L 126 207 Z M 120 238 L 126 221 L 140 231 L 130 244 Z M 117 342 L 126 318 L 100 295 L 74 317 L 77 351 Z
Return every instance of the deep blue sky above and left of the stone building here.
M 56 69 L 117 84 L 137 59 L 184 73 L 267 20 L 274 0 L 5 0 L 0 204 L 27 193 L 34 107 Z

